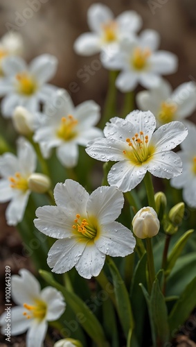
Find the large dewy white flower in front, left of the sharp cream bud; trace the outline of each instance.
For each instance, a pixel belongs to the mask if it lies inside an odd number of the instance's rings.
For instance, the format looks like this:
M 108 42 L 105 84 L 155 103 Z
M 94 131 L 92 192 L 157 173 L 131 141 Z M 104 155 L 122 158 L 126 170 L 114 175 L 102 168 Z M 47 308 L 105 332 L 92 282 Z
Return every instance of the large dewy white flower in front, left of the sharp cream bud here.
M 132 232 L 115 221 L 123 208 L 123 194 L 115 187 L 99 187 L 91 195 L 73 180 L 57 183 L 57 206 L 37 208 L 36 228 L 58 238 L 48 252 L 48 266 L 64 273 L 75 266 L 80 276 L 98 276 L 105 255 L 125 257 L 134 251 Z

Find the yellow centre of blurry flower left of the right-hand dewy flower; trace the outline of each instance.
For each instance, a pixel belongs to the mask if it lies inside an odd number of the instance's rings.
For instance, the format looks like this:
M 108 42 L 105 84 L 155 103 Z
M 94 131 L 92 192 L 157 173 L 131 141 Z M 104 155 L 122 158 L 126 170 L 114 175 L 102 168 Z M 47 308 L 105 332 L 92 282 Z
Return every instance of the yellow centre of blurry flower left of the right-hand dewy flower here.
M 57 136 L 65 141 L 73 139 L 76 135 L 74 131 L 76 124 L 78 124 L 78 121 L 74 119 L 73 116 L 69 115 L 68 117 L 62 117 L 60 128 L 57 130 Z

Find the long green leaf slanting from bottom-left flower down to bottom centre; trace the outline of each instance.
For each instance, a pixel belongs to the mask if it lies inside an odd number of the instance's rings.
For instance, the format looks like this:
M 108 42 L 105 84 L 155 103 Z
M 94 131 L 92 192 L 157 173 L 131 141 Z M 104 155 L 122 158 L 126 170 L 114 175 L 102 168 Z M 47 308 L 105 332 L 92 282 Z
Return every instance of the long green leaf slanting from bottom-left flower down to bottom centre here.
M 105 334 L 103 328 L 96 316 L 89 310 L 89 307 L 84 303 L 77 295 L 71 291 L 67 291 L 62 285 L 57 283 L 51 273 L 48 271 L 39 270 L 40 275 L 49 285 L 52 285 L 56 289 L 60 290 L 64 296 L 65 302 L 69 303 L 73 312 L 75 312 L 77 321 L 82 325 L 87 334 L 98 344 L 98 346 L 107 346 L 105 341 Z M 79 317 L 80 315 L 80 317 Z M 76 318 L 76 319 L 77 319 Z

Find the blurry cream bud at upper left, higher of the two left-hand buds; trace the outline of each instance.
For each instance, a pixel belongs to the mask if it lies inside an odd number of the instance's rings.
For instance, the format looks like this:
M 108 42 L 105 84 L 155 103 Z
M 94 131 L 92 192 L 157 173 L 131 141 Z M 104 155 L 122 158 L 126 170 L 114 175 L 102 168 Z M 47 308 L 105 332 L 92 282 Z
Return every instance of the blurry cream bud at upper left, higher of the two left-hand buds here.
M 26 108 L 17 106 L 12 121 L 18 133 L 22 135 L 33 133 L 33 115 Z

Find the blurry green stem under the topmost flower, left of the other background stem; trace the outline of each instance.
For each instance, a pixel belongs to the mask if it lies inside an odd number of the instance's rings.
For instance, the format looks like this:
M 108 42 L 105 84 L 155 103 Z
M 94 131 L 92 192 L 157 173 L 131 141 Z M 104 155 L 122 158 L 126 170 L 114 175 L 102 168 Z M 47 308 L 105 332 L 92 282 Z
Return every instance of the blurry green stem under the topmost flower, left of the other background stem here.
M 100 128 L 103 129 L 107 121 L 116 115 L 116 77 L 117 71 L 109 71 L 109 86 L 107 90 L 107 96 L 105 99 L 105 105 L 103 110 L 103 116 L 100 121 Z

